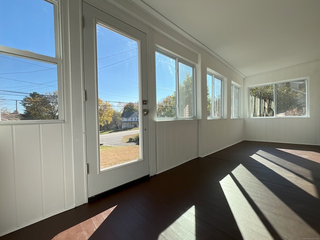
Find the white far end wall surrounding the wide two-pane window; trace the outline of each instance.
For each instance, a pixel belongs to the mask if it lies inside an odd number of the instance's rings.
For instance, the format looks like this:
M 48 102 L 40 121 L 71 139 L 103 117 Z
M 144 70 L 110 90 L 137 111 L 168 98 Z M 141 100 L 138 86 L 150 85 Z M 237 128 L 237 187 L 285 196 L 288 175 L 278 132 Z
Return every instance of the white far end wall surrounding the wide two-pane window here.
M 247 118 L 248 86 L 309 77 L 310 117 Z M 244 79 L 246 140 L 320 145 L 320 61 L 254 75 Z

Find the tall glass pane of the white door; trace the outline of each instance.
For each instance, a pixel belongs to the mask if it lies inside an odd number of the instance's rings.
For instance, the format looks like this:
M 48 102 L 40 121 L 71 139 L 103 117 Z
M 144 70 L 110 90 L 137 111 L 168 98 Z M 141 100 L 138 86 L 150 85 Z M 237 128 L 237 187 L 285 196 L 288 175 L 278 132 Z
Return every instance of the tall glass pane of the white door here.
M 100 170 L 141 158 L 139 42 L 96 24 Z

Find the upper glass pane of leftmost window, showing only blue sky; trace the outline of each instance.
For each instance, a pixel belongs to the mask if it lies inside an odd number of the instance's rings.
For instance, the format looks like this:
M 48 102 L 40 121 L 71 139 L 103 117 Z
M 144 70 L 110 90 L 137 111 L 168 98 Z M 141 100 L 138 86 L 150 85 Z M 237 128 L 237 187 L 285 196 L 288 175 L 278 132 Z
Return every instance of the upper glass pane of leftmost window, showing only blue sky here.
M 0 0 L 0 45 L 55 56 L 53 4 Z

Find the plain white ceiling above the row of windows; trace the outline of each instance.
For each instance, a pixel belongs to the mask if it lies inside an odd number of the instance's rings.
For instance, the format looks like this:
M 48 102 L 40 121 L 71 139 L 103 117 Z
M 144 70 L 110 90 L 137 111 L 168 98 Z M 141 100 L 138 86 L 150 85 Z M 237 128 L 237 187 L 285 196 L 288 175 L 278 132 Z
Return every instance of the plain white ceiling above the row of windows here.
M 244 76 L 320 59 L 320 0 L 132 0 Z

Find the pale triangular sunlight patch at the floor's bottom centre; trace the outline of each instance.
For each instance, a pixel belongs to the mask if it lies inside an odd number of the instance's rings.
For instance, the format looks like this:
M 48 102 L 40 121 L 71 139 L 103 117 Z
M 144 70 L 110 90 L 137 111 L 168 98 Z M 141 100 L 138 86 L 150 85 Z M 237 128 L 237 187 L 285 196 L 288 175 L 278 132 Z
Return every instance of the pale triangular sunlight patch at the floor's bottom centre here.
M 196 239 L 195 236 L 195 207 L 191 206 L 158 236 L 160 239 Z

